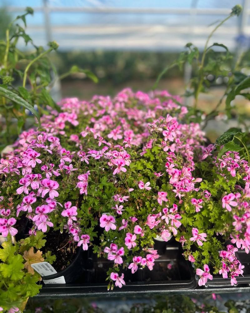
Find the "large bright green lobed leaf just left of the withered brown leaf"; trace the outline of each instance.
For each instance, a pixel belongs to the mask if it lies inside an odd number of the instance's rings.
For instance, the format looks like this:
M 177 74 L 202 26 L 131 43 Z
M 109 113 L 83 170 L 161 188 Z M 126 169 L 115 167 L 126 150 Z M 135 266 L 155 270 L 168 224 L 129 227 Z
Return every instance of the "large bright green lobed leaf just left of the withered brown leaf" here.
M 9 256 L 8 264 L 0 264 L 0 271 L 2 272 L 3 277 L 9 277 L 11 280 L 20 280 L 22 279 L 24 272 L 24 264 L 22 263 L 23 258 L 20 254 Z

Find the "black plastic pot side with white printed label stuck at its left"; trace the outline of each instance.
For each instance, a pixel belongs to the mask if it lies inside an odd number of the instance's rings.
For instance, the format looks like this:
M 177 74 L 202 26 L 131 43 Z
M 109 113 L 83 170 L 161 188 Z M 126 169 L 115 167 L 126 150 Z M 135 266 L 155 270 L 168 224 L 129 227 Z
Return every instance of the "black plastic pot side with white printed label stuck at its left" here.
M 56 274 L 42 276 L 42 280 L 51 280 L 63 276 L 66 284 L 78 283 L 81 281 L 81 276 L 85 270 L 83 267 L 83 261 L 83 249 L 78 248 L 76 257 L 70 265 Z

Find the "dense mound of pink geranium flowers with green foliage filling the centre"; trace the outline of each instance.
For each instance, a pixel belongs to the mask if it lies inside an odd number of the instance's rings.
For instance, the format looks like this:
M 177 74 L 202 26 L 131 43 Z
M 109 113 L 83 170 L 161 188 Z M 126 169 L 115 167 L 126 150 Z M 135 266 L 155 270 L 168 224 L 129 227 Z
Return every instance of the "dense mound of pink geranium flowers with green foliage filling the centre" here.
M 216 147 L 179 101 L 167 91 L 130 89 L 114 99 L 62 100 L 61 112 L 44 115 L 41 130 L 24 131 L 0 161 L 2 235 L 15 235 L 24 215 L 30 234 L 66 231 L 76 246 L 113 261 L 108 275 L 118 287 L 123 266 L 152 270 L 153 239 L 174 235 L 185 257 L 204 265 L 200 285 L 212 279 L 210 261 L 236 283 L 243 268 L 236 248 L 224 251 L 217 237 L 231 235 L 248 253 L 250 167 L 237 152 L 216 160 Z

